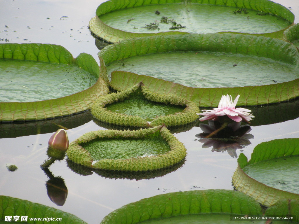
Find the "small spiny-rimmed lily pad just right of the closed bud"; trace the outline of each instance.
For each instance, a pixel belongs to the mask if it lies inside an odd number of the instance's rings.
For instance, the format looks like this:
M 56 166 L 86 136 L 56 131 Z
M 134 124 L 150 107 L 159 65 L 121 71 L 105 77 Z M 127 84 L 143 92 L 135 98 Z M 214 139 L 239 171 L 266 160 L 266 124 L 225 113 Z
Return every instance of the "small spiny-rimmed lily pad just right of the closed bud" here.
M 180 162 L 186 149 L 162 125 L 137 131 L 89 132 L 71 142 L 67 155 L 73 162 L 91 168 L 145 171 Z

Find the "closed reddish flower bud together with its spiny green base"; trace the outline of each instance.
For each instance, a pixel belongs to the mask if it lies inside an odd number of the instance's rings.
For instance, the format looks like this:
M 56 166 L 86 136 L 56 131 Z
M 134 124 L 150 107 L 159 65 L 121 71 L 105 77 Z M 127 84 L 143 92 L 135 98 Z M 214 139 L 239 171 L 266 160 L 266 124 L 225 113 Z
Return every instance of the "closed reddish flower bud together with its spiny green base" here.
M 68 134 L 64 129 L 59 129 L 49 139 L 47 155 L 53 159 L 62 160 L 65 157 L 65 151 L 67 149 Z

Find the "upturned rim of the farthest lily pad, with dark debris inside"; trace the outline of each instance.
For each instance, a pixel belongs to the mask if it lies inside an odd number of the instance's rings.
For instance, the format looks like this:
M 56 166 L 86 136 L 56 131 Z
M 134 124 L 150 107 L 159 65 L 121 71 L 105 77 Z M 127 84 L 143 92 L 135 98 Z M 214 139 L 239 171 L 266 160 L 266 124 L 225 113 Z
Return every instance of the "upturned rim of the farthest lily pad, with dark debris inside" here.
M 89 29 L 92 35 L 97 38 L 104 40 L 108 43 L 115 43 L 123 39 L 133 38 L 133 37 L 142 37 L 142 36 L 155 36 L 155 35 L 173 35 L 179 33 L 186 33 L 180 31 L 168 31 L 168 32 L 158 32 L 158 33 L 131 33 L 125 32 L 122 30 L 118 30 L 112 28 L 105 23 L 103 23 L 99 16 L 116 11 L 124 8 L 132 8 L 138 6 L 145 6 L 151 4 L 167 4 L 167 3 L 176 3 L 176 2 L 184 2 L 183 0 L 157 0 L 157 1 L 146 1 L 146 0 L 110 0 L 103 2 L 97 7 L 96 16 L 93 17 L 89 22 Z M 294 23 L 295 16 L 294 14 L 287 9 L 286 7 L 269 1 L 269 0 L 251 0 L 251 1 L 243 1 L 243 0 L 227 0 L 227 1 L 215 1 L 215 0 L 193 0 L 188 1 L 190 3 L 199 3 L 199 4 L 211 4 L 211 5 L 223 5 L 223 6 L 231 6 L 231 7 L 244 7 L 247 9 L 253 9 L 265 13 L 272 13 L 278 15 L 291 23 Z M 253 35 L 263 35 L 269 36 L 273 38 L 282 38 L 283 31 L 286 30 L 286 27 L 283 30 L 279 30 L 273 33 L 261 33 L 261 34 L 253 34 Z M 220 32 L 225 33 L 225 32 Z M 227 32 L 234 33 L 234 32 Z M 243 33 L 246 34 L 246 33 Z

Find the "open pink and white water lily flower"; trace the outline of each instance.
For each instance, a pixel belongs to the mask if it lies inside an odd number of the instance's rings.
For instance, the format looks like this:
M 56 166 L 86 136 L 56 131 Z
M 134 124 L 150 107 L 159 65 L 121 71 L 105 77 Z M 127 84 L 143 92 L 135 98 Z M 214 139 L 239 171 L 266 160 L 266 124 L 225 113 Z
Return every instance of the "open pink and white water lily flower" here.
M 228 96 L 228 94 L 226 96 L 222 95 L 218 108 L 214 108 L 212 110 L 202 110 L 204 111 L 203 113 L 197 113 L 197 115 L 203 116 L 199 120 L 215 120 L 219 116 L 227 115 L 235 122 L 244 121 L 249 123 L 249 121 L 252 120 L 254 116 L 252 116 L 252 113 L 250 113 L 251 110 L 245 108 L 236 108 L 239 96 L 240 95 L 236 97 L 233 103 L 233 99 L 231 96 Z

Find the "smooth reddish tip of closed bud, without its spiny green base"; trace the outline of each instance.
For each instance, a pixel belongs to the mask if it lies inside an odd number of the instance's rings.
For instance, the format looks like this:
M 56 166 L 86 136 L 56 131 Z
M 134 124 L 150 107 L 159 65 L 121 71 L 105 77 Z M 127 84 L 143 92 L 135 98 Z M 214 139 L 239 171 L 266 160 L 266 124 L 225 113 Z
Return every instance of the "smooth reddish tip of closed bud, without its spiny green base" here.
M 56 131 L 49 139 L 49 147 L 65 152 L 68 149 L 68 134 L 64 129 Z

